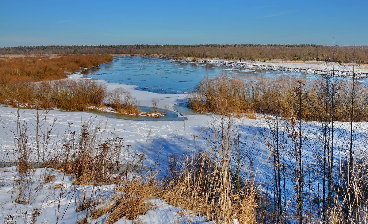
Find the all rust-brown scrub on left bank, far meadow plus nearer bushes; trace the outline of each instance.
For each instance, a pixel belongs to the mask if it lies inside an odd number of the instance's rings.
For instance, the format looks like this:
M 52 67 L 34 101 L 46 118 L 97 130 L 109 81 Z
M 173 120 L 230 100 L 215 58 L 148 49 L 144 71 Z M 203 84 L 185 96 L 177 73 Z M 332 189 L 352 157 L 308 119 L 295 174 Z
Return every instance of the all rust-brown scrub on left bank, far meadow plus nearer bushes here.
M 65 78 L 68 72 L 111 60 L 110 55 L 94 54 L 55 58 L 22 57 L 0 61 L 0 103 L 12 106 L 37 103 L 41 108 L 57 105 L 62 109 L 77 109 L 79 103 L 84 105 L 86 101 L 88 104 L 100 102 L 99 96 L 105 97 L 106 90 L 101 92 L 101 88 L 96 84 L 91 85 L 93 82 L 54 81 L 41 84 L 32 82 Z M 70 100 L 71 97 L 74 99 Z M 72 106 L 69 106 L 70 104 Z

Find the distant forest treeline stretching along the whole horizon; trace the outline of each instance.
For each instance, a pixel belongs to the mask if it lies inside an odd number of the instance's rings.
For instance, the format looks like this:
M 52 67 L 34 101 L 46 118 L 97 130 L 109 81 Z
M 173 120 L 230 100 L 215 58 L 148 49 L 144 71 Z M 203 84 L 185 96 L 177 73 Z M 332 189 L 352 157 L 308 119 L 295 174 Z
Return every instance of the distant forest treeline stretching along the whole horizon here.
M 355 48 L 355 57 L 352 50 Z M 131 55 L 158 55 L 228 59 L 228 60 L 316 60 L 331 61 L 332 46 L 326 45 L 257 45 L 257 44 L 204 44 L 204 45 L 74 45 L 74 46 L 18 46 L 0 48 L 0 54 L 76 54 L 109 53 Z M 368 62 L 368 46 L 338 46 L 336 62 Z

